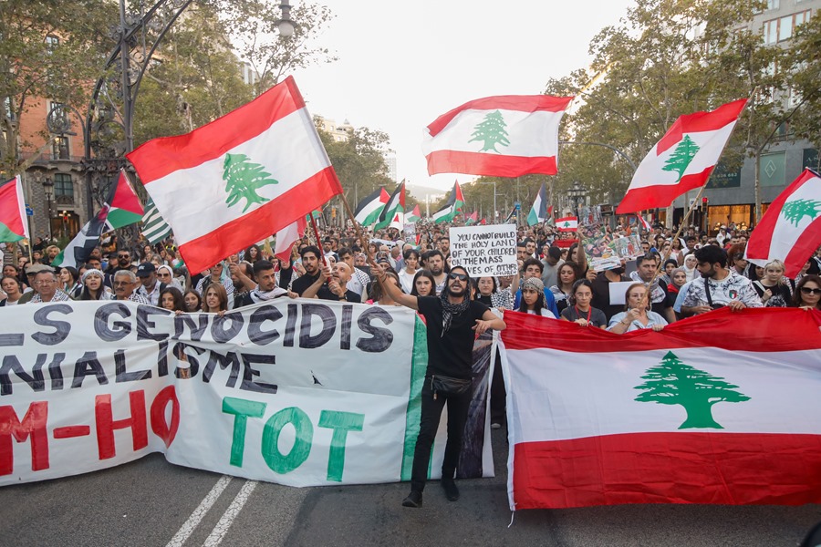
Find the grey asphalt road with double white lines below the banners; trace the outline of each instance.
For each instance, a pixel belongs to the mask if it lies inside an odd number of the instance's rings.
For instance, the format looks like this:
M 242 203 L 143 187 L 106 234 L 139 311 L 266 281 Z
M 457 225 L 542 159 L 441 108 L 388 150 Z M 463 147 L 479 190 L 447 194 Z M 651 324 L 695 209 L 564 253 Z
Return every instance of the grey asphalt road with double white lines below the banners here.
M 460 481 L 460 501 L 431 481 L 412 510 L 400 506 L 407 484 L 296 489 L 152 455 L 0 489 L 0 545 L 776 547 L 821 521 L 819 505 L 625 505 L 519 511 L 508 526 L 504 429 L 494 431 L 494 458 L 497 477 Z

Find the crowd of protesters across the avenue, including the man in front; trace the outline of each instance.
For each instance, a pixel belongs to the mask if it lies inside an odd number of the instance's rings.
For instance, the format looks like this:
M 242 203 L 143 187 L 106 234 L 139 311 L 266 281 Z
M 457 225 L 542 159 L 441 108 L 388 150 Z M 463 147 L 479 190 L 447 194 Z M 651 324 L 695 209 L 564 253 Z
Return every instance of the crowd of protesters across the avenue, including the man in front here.
M 612 232 L 613 237 L 630 233 L 623 226 Z M 691 227 L 681 238 L 656 226 L 644 234 L 642 253 L 635 260 L 603 271 L 588 267 L 584 250 L 566 233 L 541 224 L 518 228 L 518 273 L 477 279 L 452 263 L 447 225 L 419 222 L 417 234 L 407 240 L 396 229 L 358 233 L 326 228 L 319 242 L 308 236 L 297 241 L 285 259 L 275 257 L 269 244 L 251 245 L 199 273 L 187 270 L 172 238 L 124 245 L 115 234 L 107 234 L 78 268 L 53 267 L 60 250 L 41 238 L 31 249 L 6 244 L 0 306 L 130 300 L 176 314 L 224 315 L 276 298 L 303 297 L 411 307 L 434 335 L 428 337 L 431 383 L 423 387 L 411 494 L 403 501 L 409 507 L 421 506 L 430 443 L 445 404 L 450 418 L 442 486 L 449 500 L 459 498 L 452 477 L 469 401 L 457 391 L 442 391 L 438 398 L 432 377 L 435 372 L 452 376 L 457 385 L 469 381 L 465 359 L 473 334 L 504 328 L 504 310 L 618 335 L 645 328 L 659 331 L 720 307 L 821 310 L 821 249 L 799 274 L 787 278 L 785 265 L 777 260 L 764 267 L 748 263 L 744 248 L 749 233 L 734 226 L 722 226 L 715 236 Z M 615 302 L 609 287 L 613 283 L 627 287 L 624 298 Z M 501 374 L 494 374 L 490 393 L 492 428 L 501 428 Z

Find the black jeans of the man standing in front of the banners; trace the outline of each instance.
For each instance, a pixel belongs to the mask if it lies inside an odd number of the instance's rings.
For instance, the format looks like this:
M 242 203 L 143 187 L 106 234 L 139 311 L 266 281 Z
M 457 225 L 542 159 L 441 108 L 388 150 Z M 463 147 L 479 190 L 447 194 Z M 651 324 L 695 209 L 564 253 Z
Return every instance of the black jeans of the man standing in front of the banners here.
M 425 378 L 421 392 L 421 419 L 419 437 L 416 439 L 416 449 L 413 451 L 413 468 L 411 470 L 411 490 L 422 491 L 425 481 L 428 480 L 428 465 L 431 462 L 431 447 L 439 420 L 442 418 L 442 408 L 448 404 L 448 443 L 445 445 L 444 459 L 442 460 L 442 477 L 453 478 L 456 464 L 459 462 L 459 452 L 462 450 L 462 436 L 464 424 L 467 421 L 468 410 L 471 408 L 473 390 L 468 389 L 462 395 L 436 394 L 433 398 L 431 377 Z

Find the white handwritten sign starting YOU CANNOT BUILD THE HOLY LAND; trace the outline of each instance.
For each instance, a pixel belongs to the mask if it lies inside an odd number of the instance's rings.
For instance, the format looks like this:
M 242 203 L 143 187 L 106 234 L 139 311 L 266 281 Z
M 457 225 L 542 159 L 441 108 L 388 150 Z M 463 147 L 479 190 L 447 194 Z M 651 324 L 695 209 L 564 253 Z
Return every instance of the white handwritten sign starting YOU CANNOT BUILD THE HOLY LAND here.
M 451 228 L 451 264 L 472 277 L 515 275 L 516 227 L 513 224 Z

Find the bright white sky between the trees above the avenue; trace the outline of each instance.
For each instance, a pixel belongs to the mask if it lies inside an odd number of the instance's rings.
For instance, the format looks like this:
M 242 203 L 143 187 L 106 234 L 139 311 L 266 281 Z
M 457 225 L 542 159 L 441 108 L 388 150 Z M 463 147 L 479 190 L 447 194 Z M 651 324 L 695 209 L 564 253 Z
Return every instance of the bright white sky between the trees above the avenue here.
M 296 5 L 302 0 L 291 0 Z M 535 95 L 589 62 L 598 31 L 632 0 L 317 0 L 336 16 L 321 37 L 339 57 L 297 71 L 311 114 L 381 129 L 397 176 L 447 191 L 468 175 L 428 176 L 422 129 L 474 98 Z

